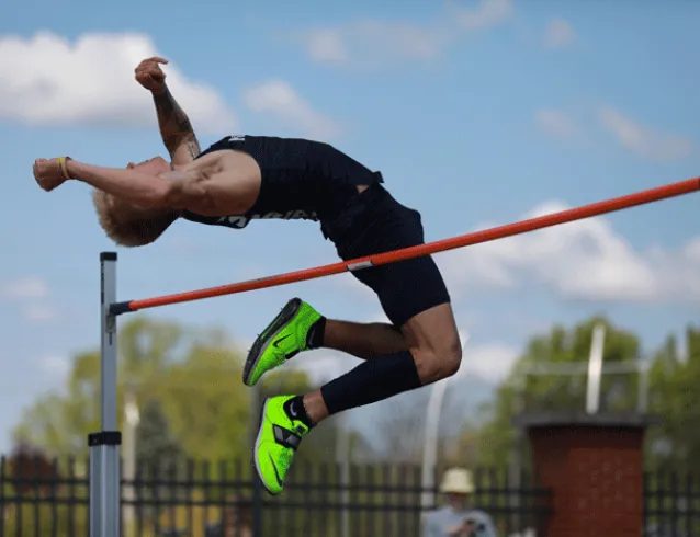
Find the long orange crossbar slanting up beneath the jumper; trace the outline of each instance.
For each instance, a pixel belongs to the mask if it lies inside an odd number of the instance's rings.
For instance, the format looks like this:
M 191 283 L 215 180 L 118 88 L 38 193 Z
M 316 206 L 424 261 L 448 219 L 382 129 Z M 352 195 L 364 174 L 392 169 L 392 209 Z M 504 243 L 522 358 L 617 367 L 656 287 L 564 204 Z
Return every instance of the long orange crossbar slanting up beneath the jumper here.
M 249 279 L 247 282 L 239 282 L 236 284 L 208 287 L 206 289 L 178 293 L 176 295 L 166 295 L 156 298 L 145 298 L 143 300 L 116 302 L 111 306 L 110 310 L 113 315 L 120 315 L 128 311 L 137 311 L 147 308 L 156 308 L 158 306 L 167 306 L 169 304 L 201 300 L 202 298 L 233 295 L 236 293 L 245 293 L 248 290 L 274 287 L 278 285 L 285 285 L 295 282 L 303 282 L 305 279 L 330 276 L 332 274 L 339 274 L 346 271 L 359 271 L 362 268 L 369 268 L 371 266 L 395 263 L 396 261 L 419 258 L 421 255 L 430 255 L 433 253 L 443 252 L 445 250 L 453 250 L 455 248 L 462 248 L 472 244 L 478 244 L 482 242 L 493 241 L 496 239 L 503 239 L 504 237 L 527 233 L 537 229 L 557 226 L 560 224 L 580 220 L 606 213 L 612 213 L 616 210 L 634 207 L 636 205 L 658 202 L 661 199 L 680 196 L 684 194 L 690 194 L 697 191 L 700 191 L 700 178 L 688 179 L 686 181 L 658 186 L 656 188 L 650 188 L 646 191 L 636 192 L 634 194 L 628 194 L 625 196 L 606 199 L 603 202 L 598 202 L 590 205 L 584 205 L 582 207 L 562 210 L 560 213 L 554 213 L 551 215 L 531 218 L 529 220 L 507 224 L 505 226 L 485 229 L 483 231 L 475 231 L 473 233 L 466 233 L 459 237 L 453 237 L 451 239 L 442 239 L 417 247 L 404 248 L 402 250 L 395 250 L 392 252 L 380 253 L 366 258 L 359 258 L 355 260 L 332 263 L 329 265 L 316 266 L 314 268 L 305 268 L 286 274 L 279 274 L 275 276 Z

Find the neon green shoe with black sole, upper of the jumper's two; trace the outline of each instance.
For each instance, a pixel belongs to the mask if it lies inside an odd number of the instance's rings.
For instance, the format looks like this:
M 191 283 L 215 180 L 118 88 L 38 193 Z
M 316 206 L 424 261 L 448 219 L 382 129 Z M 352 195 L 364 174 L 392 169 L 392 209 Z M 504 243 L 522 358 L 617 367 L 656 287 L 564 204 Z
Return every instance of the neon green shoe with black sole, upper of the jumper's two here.
M 320 313 L 301 298 L 292 298 L 252 344 L 244 367 L 244 384 L 255 386 L 267 372 L 306 351 L 306 339 Z

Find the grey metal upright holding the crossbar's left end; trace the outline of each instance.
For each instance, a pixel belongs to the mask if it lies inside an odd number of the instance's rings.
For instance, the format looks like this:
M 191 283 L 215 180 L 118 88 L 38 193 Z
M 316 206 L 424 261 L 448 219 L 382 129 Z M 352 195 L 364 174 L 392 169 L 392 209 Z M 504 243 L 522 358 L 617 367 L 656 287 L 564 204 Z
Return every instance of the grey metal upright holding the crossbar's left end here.
M 120 537 L 120 445 L 116 430 L 116 253 L 100 254 L 102 431 L 90 446 L 90 537 Z

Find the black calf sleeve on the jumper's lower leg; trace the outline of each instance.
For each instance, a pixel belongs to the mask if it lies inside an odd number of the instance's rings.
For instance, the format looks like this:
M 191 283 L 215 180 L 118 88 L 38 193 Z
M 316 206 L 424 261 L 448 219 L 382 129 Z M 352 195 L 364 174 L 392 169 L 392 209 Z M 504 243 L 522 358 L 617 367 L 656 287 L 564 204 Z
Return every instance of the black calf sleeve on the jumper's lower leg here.
M 320 393 L 329 414 L 332 415 L 421 386 L 414 356 L 408 351 L 403 351 L 365 361 L 323 386 Z

